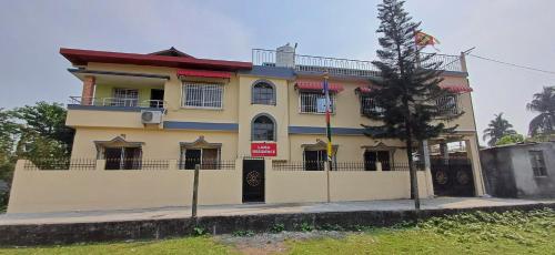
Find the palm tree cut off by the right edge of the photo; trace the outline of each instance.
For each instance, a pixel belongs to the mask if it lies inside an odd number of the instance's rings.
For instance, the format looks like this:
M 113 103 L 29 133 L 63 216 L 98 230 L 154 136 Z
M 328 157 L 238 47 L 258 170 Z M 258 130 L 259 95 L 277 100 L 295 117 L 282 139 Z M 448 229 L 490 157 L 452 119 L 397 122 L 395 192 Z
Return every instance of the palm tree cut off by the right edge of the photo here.
M 544 86 L 541 93 L 535 93 L 526 109 L 539 113 L 529 122 L 529 135 L 552 134 L 555 126 L 555 86 Z

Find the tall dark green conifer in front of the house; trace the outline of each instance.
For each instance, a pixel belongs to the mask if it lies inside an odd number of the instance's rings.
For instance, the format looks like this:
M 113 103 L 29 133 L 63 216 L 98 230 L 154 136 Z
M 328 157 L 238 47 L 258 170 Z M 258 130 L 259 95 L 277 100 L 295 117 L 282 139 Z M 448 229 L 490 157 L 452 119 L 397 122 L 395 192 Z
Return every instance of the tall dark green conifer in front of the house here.
M 380 61 L 372 63 L 380 70 L 382 79 L 374 82 L 379 89 L 372 90 L 370 96 L 383 111 L 370 111 L 365 116 L 382 124 L 363 126 L 364 133 L 371 137 L 394 137 L 405 142 L 412 197 L 415 207 L 420 208 L 416 169 L 413 166 L 414 144 L 454 128 L 432 123 L 443 115 L 441 109 L 445 106 L 437 105 L 437 99 L 450 92 L 438 86 L 442 79 L 437 70 L 442 63 L 430 61 L 433 55 L 423 57 L 421 49 L 415 47 L 414 33 L 418 31 L 420 22 L 412 21 L 403 4 L 403 1 L 384 0 L 377 6 L 381 49 L 376 53 Z

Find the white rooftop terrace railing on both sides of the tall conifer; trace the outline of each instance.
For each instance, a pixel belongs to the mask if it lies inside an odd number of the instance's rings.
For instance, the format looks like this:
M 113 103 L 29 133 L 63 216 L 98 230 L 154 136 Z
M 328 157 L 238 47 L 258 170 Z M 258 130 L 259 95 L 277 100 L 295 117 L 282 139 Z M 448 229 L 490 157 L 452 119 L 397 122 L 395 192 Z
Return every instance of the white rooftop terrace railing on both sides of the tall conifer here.
M 278 52 L 275 50 L 253 49 L 252 63 L 265 67 L 294 68 L 299 72 L 323 72 L 329 71 L 334 75 L 353 76 L 379 76 L 380 71 L 371 61 L 336 59 L 329 57 L 314 57 L 294 54 L 294 58 L 279 58 L 279 54 L 293 54 L 290 52 Z M 430 55 L 430 53 L 421 53 Z M 276 60 L 293 59 L 294 63 L 280 62 Z M 423 58 L 424 59 L 424 58 Z M 441 62 L 441 70 L 463 72 L 463 65 L 458 55 L 435 54 L 423 61 L 423 64 Z

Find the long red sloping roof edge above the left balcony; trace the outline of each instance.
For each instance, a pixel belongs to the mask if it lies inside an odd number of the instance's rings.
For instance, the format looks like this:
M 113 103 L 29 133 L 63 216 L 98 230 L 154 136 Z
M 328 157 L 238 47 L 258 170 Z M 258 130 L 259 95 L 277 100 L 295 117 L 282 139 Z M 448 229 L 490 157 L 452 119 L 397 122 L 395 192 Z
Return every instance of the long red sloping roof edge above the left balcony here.
M 169 68 L 194 68 L 222 71 L 239 71 L 251 70 L 251 62 L 226 61 L 226 60 L 209 60 L 195 59 L 186 57 L 155 55 L 155 54 L 138 54 L 138 53 L 121 53 L 109 51 L 92 51 L 79 49 L 60 48 L 60 54 L 65 57 L 73 64 L 87 64 L 89 62 L 100 63 L 122 63 L 122 64 L 139 64 L 154 65 Z

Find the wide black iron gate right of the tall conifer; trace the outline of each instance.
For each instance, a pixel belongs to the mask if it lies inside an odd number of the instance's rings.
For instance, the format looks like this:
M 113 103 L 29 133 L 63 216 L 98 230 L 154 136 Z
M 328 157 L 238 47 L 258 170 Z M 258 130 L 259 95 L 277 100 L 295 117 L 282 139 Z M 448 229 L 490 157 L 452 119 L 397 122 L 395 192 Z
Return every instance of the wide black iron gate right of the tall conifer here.
M 434 193 L 438 196 L 474 196 L 474 177 L 468 159 L 431 159 Z

